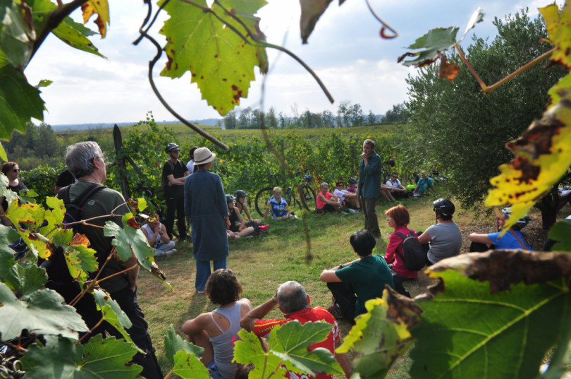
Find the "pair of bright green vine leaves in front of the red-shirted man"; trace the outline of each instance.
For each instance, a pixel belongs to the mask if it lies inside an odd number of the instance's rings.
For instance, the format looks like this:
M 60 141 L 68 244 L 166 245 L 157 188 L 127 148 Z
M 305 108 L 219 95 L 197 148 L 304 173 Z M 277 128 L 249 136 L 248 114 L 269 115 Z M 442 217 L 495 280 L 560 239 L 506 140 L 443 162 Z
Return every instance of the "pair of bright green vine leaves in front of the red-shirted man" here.
M 331 351 L 323 348 L 309 350 L 309 345 L 323 341 L 331 333 L 329 323 L 301 323 L 290 321 L 274 327 L 269 335 L 269 347 L 264 350 L 251 332 L 240 330 L 240 341 L 235 342 L 234 359 L 242 364 L 254 364 L 249 378 L 269 378 L 285 374 L 281 365 L 295 373 L 342 373 Z

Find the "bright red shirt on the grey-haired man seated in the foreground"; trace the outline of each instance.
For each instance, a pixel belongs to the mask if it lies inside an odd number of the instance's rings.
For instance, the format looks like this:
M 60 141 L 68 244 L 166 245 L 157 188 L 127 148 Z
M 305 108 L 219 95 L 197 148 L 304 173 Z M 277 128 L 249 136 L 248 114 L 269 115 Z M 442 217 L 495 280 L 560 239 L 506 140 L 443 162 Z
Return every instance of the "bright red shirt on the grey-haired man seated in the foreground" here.
M 256 324 L 254 325 L 254 334 L 258 337 L 264 337 L 269 334 L 269 332 L 278 325 L 283 325 L 291 320 L 297 320 L 302 325 L 307 323 L 308 321 L 315 322 L 315 321 L 324 321 L 333 325 L 331 328 L 331 332 L 327 336 L 327 339 L 321 342 L 316 342 L 314 344 L 309 345 L 309 349 L 317 349 L 318 347 L 323 347 L 324 349 L 328 349 L 331 351 L 331 354 L 335 354 L 335 342 L 339 339 L 339 327 L 337 325 L 337 321 L 335 318 L 329 313 L 325 308 L 321 306 L 317 306 L 315 308 L 305 308 L 301 311 L 297 311 L 294 313 L 289 313 L 285 315 L 285 319 L 274 319 L 274 320 L 257 320 Z M 288 378 L 290 379 L 309 379 L 309 377 L 305 374 L 300 373 L 293 373 L 292 371 L 288 371 Z M 315 379 L 331 379 L 333 375 L 329 374 L 317 374 Z

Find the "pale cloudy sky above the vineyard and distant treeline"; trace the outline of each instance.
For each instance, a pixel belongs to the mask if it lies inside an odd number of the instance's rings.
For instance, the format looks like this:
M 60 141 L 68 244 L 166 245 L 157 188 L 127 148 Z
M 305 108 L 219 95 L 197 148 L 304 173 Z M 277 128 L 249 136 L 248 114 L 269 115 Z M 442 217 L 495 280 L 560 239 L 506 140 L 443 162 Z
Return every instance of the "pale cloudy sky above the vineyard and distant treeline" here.
M 297 0 L 269 0 L 257 16 L 262 18 L 261 29 L 266 40 L 280 44 L 300 56 L 324 82 L 333 95 L 331 104 L 319 85 L 300 64 L 285 54 L 268 50 L 270 72 L 262 76 L 258 69 L 251 83 L 247 99 L 240 101 L 241 108 L 261 108 L 267 112 L 292 115 L 293 108 L 300 114 L 330 110 L 336 114 L 340 102 L 359 103 L 368 114 L 385 114 L 394 104 L 407 100 L 405 79 L 415 75 L 416 68 L 397 64 L 405 47 L 433 28 L 460 27 L 465 30 L 472 13 L 478 7 L 484 12 L 484 21 L 467 35 L 462 46 L 467 46 L 474 33 L 478 37 L 493 37 L 494 16 L 503 18 L 529 7 L 536 15 L 538 7 L 552 0 L 369 0 L 375 13 L 398 32 L 398 37 L 384 40 L 379 37 L 381 25 L 372 16 L 364 0 L 346 0 L 341 6 L 332 1 L 309 36 L 302 44 L 299 30 L 300 4 Z M 44 122 L 61 124 L 98 124 L 137 122 L 151 111 L 156 121 L 173 121 L 172 116 L 156 99 L 147 80 L 149 60 L 156 49 L 147 40 L 137 46 L 132 42 L 147 13 L 141 0 L 110 0 L 110 20 L 106 38 L 92 37 L 92 42 L 107 59 L 80 52 L 68 47 L 56 37 L 44 42 L 25 70 L 27 80 L 35 85 L 42 79 L 54 83 L 42 88 L 46 102 Z M 563 0 L 557 0 L 563 4 Z M 156 6 L 154 6 L 156 8 Z M 71 15 L 80 22 L 80 11 Z M 150 34 L 165 44 L 158 31 L 164 20 L 163 13 Z M 94 18 L 87 23 L 97 30 Z M 154 68 L 154 80 L 159 91 L 171 107 L 190 120 L 221 118 L 214 109 L 201 100 L 190 73 L 182 78 L 159 76 L 166 64 L 163 55 Z M 262 85 L 264 96 L 262 98 Z

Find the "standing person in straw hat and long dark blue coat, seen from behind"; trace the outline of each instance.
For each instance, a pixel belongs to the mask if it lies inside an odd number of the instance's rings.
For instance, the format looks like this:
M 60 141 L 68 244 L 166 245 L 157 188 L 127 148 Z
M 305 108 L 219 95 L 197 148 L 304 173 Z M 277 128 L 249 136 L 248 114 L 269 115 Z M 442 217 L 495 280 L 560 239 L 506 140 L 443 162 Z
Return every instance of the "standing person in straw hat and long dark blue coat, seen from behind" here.
M 195 150 L 194 174 L 185 180 L 185 215 L 192 226 L 192 248 L 196 259 L 197 293 L 204 294 L 210 276 L 210 261 L 214 271 L 226 268 L 230 227 L 228 205 L 220 176 L 209 172 L 216 154 L 208 148 Z

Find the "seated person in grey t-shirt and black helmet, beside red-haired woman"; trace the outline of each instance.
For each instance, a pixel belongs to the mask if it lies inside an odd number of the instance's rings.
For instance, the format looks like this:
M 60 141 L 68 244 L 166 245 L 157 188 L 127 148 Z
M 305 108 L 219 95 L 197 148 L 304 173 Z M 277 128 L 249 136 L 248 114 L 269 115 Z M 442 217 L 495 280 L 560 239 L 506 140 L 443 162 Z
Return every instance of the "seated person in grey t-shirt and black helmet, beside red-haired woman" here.
M 433 265 L 439 260 L 460 254 L 462 233 L 458 225 L 452 221 L 456 208 L 444 198 L 434 200 L 432 210 L 436 224 L 431 225 L 424 233 L 419 234 L 418 241 L 426 250 L 426 265 Z

